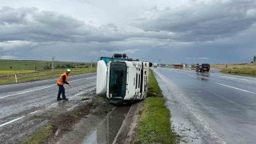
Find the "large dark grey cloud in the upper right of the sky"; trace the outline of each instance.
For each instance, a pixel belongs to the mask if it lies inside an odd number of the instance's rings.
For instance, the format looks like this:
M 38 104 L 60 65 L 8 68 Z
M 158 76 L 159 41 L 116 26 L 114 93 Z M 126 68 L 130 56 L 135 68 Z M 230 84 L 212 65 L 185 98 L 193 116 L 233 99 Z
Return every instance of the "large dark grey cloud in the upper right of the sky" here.
M 178 41 L 213 41 L 249 29 L 256 23 L 255 7 L 254 0 L 198 2 L 175 10 L 158 10 L 157 16 L 136 25 L 146 31 L 173 32 Z

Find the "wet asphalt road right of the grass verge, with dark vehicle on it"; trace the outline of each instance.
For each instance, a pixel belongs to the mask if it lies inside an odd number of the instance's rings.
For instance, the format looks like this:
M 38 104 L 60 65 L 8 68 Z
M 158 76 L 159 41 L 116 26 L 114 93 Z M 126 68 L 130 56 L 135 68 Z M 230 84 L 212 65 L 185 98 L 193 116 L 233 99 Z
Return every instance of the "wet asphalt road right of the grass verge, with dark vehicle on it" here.
M 256 78 L 154 68 L 184 143 L 255 143 Z

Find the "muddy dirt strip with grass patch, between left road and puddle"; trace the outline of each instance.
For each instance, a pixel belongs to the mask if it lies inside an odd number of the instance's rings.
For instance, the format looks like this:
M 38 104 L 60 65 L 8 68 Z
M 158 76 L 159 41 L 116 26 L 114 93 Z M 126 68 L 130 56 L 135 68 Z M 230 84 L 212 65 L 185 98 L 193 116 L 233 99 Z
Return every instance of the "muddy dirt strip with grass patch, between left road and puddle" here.
M 47 123 L 23 143 L 80 143 L 113 109 L 106 98 L 95 97 L 62 114 L 35 115 L 34 118 L 45 119 Z

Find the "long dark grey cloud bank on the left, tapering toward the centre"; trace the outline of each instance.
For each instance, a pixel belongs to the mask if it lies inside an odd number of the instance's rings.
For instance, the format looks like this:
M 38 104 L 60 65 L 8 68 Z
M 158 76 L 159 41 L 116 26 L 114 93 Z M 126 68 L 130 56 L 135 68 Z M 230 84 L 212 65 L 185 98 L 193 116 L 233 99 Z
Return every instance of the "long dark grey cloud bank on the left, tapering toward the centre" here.
M 0 8 L 0 42 L 109 42 L 130 37 L 114 24 L 91 26 L 85 22 L 36 8 Z

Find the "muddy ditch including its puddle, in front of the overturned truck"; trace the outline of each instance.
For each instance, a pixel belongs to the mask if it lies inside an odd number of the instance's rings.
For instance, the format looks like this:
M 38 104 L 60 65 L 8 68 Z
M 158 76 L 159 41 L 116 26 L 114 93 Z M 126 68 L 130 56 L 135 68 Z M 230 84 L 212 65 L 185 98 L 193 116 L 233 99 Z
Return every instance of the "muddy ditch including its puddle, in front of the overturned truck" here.
M 141 107 L 142 102 L 113 106 L 105 97 L 94 97 L 74 110 L 36 114 L 34 119 L 54 127 L 46 143 L 131 143 Z

